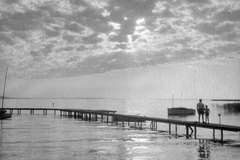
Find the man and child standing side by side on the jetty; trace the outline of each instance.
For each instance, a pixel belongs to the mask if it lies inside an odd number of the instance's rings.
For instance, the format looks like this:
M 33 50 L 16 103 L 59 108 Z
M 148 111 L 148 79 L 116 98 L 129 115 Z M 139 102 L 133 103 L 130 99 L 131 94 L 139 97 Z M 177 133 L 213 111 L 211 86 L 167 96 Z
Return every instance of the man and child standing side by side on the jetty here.
M 210 110 L 207 105 L 206 107 L 204 107 L 204 104 L 202 103 L 202 99 L 199 99 L 199 103 L 197 104 L 197 112 L 198 112 L 198 122 L 200 122 L 200 117 L 202 116 L 202 122 L 209 123 Z M 204 114 L 205 114 L 206 122 L 204 122 Z

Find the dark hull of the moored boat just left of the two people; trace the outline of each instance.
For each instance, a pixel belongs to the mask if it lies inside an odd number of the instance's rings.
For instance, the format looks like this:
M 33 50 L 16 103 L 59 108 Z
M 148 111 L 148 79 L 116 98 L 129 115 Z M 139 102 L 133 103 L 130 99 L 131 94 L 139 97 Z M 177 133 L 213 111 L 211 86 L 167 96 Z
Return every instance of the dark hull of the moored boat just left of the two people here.
M 195 109 L 191 108 L 168 108 L 168 115 L 194 115 L 196 114 Z

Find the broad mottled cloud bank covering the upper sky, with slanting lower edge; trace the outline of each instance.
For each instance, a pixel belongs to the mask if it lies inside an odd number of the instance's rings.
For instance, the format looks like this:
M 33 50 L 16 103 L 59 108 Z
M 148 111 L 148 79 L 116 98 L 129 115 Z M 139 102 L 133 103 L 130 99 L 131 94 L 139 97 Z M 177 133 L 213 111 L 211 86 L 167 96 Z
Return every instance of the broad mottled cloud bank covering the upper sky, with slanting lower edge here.
M 1 1 L 2 60 L 17 77 L 64 77 L 239 59 L 240 2 Z M 1 62 L 2 63 L 2 62 Z

